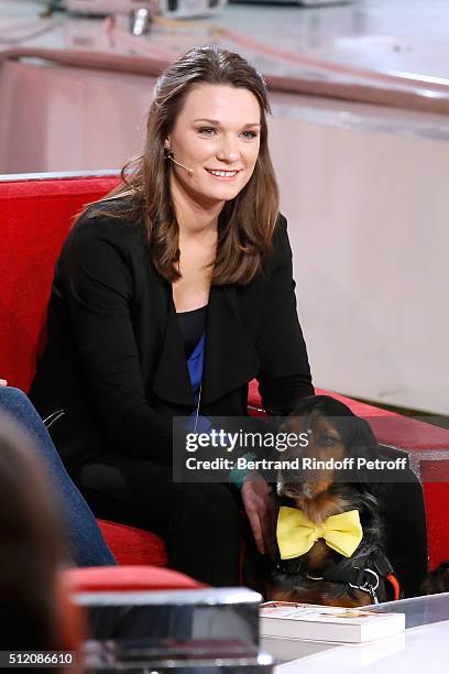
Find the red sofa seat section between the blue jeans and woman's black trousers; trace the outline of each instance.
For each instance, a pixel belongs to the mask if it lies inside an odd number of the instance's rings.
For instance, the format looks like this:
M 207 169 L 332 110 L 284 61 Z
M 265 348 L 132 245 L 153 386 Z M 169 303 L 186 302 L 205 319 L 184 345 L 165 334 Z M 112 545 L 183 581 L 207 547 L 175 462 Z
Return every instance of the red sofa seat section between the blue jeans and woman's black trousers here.
M 119 564 L 166 566 L 165 544 L 156 534 L 107 520 L 98 524 Z

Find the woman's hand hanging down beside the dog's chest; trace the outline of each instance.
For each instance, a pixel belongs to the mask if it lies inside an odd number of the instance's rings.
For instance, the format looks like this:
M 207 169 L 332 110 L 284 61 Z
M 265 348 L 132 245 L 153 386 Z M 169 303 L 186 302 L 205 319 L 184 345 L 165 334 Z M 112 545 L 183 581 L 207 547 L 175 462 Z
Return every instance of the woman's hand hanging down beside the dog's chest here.
M 241 494 L 259 552 L 274 558 L 277 504 L 270 485 L 253 470 L 244 480 Z

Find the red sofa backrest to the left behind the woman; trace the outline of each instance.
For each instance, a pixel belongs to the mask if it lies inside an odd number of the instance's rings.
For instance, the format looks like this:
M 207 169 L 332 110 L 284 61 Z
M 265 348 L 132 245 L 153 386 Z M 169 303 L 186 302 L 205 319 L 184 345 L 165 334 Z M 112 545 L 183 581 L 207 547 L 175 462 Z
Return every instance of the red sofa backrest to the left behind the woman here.
M 118 176 L 0 182 L 0 372 L 28 391 L 53 279 L 74 216 Z

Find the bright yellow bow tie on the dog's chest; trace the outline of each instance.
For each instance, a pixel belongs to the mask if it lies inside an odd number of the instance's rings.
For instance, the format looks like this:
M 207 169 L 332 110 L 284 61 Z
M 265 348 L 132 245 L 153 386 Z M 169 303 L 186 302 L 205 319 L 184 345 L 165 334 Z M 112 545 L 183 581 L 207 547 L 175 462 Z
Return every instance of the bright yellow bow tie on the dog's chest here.
M 340 555 L 350 557 L 363 537 L 363 530 L 358 510 L 330 515 L 322 524 L 315 524 L 302 510 L 282 507 L 276 535 L 282 559 L 306 554 L 318 539 L 324 539 Z

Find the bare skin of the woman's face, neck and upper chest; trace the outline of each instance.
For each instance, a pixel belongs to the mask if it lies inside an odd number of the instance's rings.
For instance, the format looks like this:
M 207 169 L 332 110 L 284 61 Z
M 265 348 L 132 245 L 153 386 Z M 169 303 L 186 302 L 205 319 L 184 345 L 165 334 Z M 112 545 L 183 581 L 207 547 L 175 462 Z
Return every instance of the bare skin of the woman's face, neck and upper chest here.
M 198 117 L 201 112 L 208 118 Z M 173 162 L 171 193 L 178 221 L 185 214 L 179 242 L 191 253 L 179 259 L 180 278 L 173 289 L 177 311 L 191 311 L 208 302 L 209 270 L 217 254 L 215 222 L 225 204 L 238 196 L 254 172 L 260 117 L 259 101 L 248 89 L 196 85 L 164 143 L 166 156 Z M 198 242 L 204 244 L 199 250 Z

